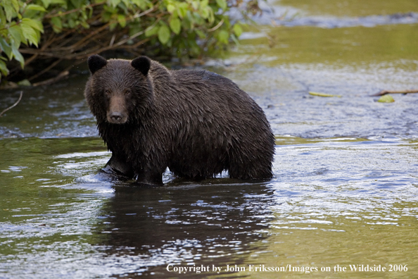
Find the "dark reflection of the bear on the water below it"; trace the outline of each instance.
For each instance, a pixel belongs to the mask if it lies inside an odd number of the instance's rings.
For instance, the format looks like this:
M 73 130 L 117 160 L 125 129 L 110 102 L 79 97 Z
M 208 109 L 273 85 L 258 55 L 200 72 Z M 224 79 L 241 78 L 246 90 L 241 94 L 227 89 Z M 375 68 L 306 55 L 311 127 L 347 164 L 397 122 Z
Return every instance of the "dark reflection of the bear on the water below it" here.
M 263 248 L 260 240 L 267 237 L 273 191 L 265 183 L 234 182 L 222 178 L 160 187 L 115 186 L 97 227 L 103 240 L 98 244 L 120 264 L 127 256 L 144 260 L 143 268 L 129 278 L 210 275 L 169 273 L 169 263 L 222 269 L 243 263 Z

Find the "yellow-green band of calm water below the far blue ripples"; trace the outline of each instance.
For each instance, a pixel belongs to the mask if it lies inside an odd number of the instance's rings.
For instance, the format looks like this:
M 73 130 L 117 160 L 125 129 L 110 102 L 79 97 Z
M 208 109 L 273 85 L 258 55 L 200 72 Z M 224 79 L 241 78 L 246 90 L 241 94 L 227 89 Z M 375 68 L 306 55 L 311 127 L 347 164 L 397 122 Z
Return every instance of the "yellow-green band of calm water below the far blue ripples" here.
M 418 70 L 418 25 L 380 25 L 326 29 L 320 27 L 262 27 L 267 37 L 243 40 L 232 54 L 253 58 L 266 66 L 320 63 L 344 68 L 361 66 Z M 251 63 L 250 63 L 251 64 Z M 241 68 L 241 66 L 240 66 Z

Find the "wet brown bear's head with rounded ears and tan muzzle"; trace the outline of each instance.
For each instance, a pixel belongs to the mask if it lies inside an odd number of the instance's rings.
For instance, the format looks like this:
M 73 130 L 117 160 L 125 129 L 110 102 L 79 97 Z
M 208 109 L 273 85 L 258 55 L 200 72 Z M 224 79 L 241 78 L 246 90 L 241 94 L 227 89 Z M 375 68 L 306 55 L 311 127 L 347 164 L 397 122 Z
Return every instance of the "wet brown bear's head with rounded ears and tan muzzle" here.
M 91 76 L 84 95 L 98 122 L 125 124 L 141 117 L 150 106 L 152 82 L 148 77 L 151 59 L 106 60 L 92 55 L 87 60 Z

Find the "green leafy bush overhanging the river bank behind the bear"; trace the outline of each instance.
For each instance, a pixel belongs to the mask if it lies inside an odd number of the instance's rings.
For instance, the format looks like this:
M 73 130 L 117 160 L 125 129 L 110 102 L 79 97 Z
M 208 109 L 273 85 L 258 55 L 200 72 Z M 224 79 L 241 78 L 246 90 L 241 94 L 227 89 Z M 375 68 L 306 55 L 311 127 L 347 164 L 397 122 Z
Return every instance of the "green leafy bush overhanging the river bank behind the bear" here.
M 258 7 L 254 2 L 244 10 Z M 23 54 L 80 59 L 144 45 L 177 56 L 223 49 L 242 33 L 241 23 L 230 23 L 225 14 L 240 5 L 242 0 L 1 0 L 0 76 L 9 73 L 7 61 L 23 68 Z M 59 39 L 64 37 L 66 44 Z

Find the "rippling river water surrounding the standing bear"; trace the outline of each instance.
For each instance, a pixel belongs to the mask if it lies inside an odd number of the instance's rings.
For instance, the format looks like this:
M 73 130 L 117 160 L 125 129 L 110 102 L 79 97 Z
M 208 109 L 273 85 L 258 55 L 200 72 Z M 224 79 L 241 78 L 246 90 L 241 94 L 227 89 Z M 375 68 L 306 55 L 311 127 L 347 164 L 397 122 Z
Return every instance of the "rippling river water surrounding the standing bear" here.
M 274 178 L 113 181 L 87 75 L 25 88 L 0 118 L 0 278 L 418 277 L 418 94 L 370 97 L 418 87 L 417 1 L 264 10 L 204 67 L 265 110 Z

